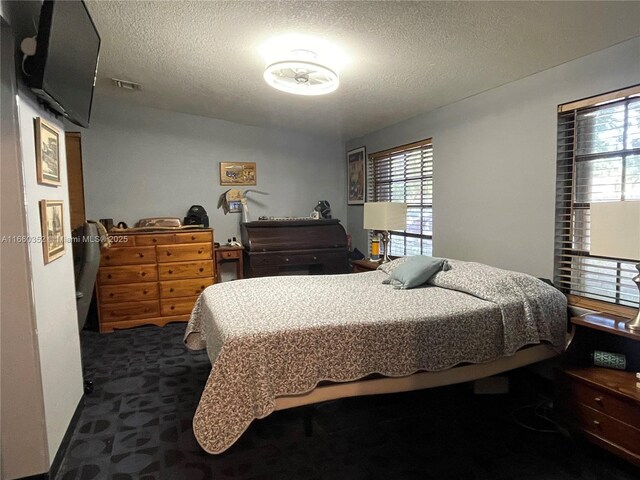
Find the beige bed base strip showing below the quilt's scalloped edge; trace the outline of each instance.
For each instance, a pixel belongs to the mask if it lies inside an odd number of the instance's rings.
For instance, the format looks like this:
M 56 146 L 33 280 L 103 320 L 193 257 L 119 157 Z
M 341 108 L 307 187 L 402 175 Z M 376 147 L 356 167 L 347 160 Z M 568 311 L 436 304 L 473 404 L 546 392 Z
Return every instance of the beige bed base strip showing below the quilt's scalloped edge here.
M 511 357 L 502 357 L 488 363 L 461 365 L 439 372 L 417 372 L 405 377 L 382 377 L 353 382 L 329 383 L 319 385 L 307 393 L 280 396 L 276 398 L 275 410 L 285 410 L 339 398 L 409 392 L 470 382 L 547 360 L 557 355 L 558 352 L 551 346 L 541 344 L 525 347 L 518 350 Z

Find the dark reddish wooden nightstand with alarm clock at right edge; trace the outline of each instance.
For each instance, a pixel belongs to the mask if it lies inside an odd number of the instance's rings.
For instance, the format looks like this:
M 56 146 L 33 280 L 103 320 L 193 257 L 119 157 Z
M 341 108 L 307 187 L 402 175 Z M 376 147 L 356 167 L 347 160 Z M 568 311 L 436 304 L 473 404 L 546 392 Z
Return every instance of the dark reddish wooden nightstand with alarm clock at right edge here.
M 573 341 L 559 370 L 558 420 L 591 442 L 640 466 L 640 335 L 612 315 L 571 319 Z M 594 350 L 622 353 L 627 369 L 594 367 Z

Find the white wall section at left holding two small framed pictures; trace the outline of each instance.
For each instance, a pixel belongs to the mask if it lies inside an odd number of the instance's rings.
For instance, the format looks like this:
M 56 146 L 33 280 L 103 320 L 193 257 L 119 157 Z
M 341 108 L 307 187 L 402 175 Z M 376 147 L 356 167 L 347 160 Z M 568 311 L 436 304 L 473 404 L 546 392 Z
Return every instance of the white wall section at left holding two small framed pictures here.
M 38 116 L 56 125 L 61 133 L 62 185 L 59 187 L 37 183 L 34 119 Z M 69 192 L 62 122 L 44 113 L 37 103 L 24 93 L 20 94 L 18 119 L 28 235 L 32 238 L 42 235 L 39 201 L 46 199 L 64 201 L 64 231 L 65 235 L 70 237 Z M 49 462 L 52 462 L 83 394 L 73 255 L 71 244 L 67 244 L 62 257 L 45 265 L 42 244 L 31 243 L 29 256 Z

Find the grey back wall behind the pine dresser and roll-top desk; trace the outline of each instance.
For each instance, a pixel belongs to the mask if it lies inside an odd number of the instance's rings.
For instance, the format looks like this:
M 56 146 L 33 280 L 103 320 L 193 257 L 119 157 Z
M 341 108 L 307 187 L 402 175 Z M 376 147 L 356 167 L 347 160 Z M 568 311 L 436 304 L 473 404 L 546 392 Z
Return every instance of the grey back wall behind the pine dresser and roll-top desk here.
M 135 95 L 135 93 L 132 93 Z M 140 218 L 183 218 L 207 210 L 216 241 L 239 236 L 240 214 L 223 215 L 219 162 L 256 162 L 252 218 L 308 216 L 328 200 L 346 224 L 343 144 L 338 139 L 250 127 L 223 120 L 124 104 L 96 96 L 91 127 L 82 131 L 87 217 L 130 226 Z M 257 202 L 262 203 L 259 205 Z

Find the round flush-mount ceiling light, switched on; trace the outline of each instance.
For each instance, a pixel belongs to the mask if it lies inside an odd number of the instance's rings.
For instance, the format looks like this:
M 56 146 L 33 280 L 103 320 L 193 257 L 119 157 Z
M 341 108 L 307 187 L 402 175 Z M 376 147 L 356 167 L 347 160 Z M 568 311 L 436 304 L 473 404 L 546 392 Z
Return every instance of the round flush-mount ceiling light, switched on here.
M 311 50 L 293 50 L 269 64 L 265 81 L 273 88 L 295 95 L 325 95 L 340 84 L 338 74 Z

